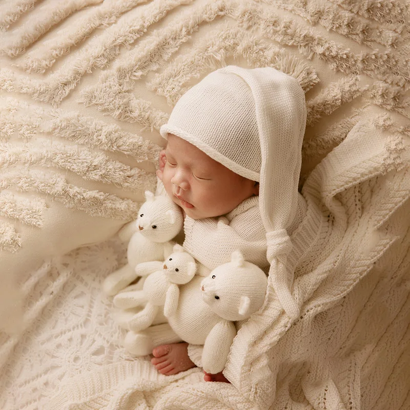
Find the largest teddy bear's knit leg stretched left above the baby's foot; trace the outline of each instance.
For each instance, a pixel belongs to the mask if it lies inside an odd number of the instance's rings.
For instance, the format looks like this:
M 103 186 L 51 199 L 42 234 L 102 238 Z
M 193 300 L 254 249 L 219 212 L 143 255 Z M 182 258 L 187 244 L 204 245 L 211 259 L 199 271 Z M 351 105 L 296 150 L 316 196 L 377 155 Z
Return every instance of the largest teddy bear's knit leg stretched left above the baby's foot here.
M 143 332 L 128 332 L 124 347 L 135 356 L 147 356 L 152 353 L 154 347 L 181 341 L 168 323 L 162 323 L 150 326 Z

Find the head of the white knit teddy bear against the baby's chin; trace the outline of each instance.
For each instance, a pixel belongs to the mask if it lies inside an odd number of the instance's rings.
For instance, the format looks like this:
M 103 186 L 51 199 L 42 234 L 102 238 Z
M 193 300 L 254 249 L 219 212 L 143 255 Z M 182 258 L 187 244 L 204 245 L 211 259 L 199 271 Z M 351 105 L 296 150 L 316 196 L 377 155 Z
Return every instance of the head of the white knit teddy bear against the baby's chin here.
M 155 196 L 145 191 L 146 201 L 138 211 L 139 233 L 153 242 L 167 242 L 183 227 L 182 210 L 168 195 Z

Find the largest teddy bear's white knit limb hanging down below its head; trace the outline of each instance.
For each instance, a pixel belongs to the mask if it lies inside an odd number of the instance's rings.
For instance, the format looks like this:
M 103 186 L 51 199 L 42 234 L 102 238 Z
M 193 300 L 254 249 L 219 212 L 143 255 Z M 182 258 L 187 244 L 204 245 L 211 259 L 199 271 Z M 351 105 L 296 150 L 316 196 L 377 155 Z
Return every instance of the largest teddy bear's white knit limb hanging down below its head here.
M 209 332 L 202 352 L 202 368 L 207 373 L 217 374 L 224 369 L 231 345 L 236 336 L 233 322 L 220 320 Z

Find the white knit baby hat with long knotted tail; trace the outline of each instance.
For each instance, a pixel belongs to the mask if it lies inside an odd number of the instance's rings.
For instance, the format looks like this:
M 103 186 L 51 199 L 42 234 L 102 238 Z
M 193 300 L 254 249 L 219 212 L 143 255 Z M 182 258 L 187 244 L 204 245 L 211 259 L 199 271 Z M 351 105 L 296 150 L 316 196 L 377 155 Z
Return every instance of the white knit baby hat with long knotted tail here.
M 168 133 L 190 142 L 233 172 L 259 181 L 259 208 L 267 237 L 270 280 L 285 312 L 299 307 L 286 266 L 292 242 L 286 228 L 297 209 L 301 148 L 306 125 L 304 92 L 298 81 L 272 67 L 227 66 L 182 95 Z

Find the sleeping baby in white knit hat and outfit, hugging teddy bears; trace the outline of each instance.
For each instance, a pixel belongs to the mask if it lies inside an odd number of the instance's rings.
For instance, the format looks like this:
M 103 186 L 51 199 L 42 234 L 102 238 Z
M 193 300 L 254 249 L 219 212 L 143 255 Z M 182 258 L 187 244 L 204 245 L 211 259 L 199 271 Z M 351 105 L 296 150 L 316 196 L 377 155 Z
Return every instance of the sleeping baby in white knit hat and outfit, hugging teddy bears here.
M 201 275 L 239 249 L 269 274 L 293 317 L 299 308 L 286 255 L 306 212 L 298 193 L 305 122 L 296 79 L 271 67 L 227 66 L 178 100 L 160 129 L 168 143 L 157 171 L 163 193 L 183 210 L 183 248 L 198 261 Z M 200 326 L 200 318 L 186 320 Z M 198 349 L 185 342 L 158 345 L 152 363 L 162 374 L 176 374 L 200 365 Z M 206 373 L 204 379 L 228 381 L 222 374 Z

